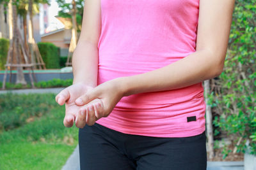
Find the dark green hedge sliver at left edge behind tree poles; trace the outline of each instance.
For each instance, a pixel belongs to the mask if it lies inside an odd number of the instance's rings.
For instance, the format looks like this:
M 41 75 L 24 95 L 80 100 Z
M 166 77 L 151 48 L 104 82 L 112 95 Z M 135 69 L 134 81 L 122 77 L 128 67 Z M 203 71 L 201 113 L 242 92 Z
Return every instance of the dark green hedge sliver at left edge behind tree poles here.
M 9 40 L 0 38 L 0 69 L 4 69 L 4 64 L 6 64 L 8 48 Z

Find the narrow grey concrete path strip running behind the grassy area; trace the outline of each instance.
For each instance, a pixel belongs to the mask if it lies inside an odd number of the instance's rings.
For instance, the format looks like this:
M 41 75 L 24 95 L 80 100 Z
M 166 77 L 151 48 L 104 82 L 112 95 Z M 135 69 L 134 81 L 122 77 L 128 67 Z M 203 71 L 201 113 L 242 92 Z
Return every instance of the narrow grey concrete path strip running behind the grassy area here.
M 29 93 L 54 93 L 58 94 L 64 87 L 47 88 L 47 89 L 19 89 L 19 90 L 0 90 L 0 94 L 15 93 L 15 94 L 29 94 Z

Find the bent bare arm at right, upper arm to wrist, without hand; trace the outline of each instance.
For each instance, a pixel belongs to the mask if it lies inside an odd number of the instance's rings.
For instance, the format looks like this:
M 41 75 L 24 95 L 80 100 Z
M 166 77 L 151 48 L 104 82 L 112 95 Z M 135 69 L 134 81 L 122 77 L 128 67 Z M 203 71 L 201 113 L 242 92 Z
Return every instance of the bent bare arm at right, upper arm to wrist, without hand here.
M 234 0 L 200 0 L 196 52 L 160 69 L 120 78 L 124 96 L 179 89 L 220 75 L 233 9 Z

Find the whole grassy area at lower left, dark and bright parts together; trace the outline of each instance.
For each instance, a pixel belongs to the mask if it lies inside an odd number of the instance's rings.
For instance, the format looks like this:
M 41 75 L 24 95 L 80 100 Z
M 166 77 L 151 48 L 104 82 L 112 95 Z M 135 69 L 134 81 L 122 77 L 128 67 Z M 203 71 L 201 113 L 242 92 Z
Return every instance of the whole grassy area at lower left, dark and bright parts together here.
M 0 96 L 0 169 L 61 169 L 78 141 L 64 113 L 54 94 Z

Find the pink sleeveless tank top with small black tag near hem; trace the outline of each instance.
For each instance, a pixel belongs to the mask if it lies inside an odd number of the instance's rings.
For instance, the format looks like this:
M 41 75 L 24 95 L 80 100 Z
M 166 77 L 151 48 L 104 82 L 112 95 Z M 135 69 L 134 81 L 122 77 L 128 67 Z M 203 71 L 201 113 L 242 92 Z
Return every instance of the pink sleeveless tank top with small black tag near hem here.
M 199 0 L 101 0 L 101 10 L 98 85 L 195 52 Z M 123 97 L 97 123 L 126 134 L 195 136 L 205 131 L 205 106 L 200 82 Z

